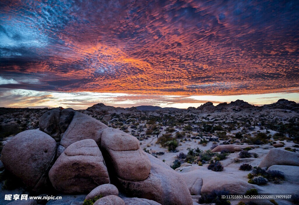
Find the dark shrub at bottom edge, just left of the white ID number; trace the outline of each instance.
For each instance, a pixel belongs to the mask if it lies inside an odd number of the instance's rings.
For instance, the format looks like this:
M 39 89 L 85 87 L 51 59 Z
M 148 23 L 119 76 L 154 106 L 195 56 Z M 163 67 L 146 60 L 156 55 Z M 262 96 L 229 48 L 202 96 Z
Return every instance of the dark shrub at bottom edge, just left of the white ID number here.
M 215 203 L 216 205 L 229 205 L 230 201 L 222 199 L 222 195 L 229 195 L 229 192 L 224 190 L 213 190 L 210 194 L 202 194 L 202 197 L 199 198 L 198 203 L 200 204 L 210 204 Z

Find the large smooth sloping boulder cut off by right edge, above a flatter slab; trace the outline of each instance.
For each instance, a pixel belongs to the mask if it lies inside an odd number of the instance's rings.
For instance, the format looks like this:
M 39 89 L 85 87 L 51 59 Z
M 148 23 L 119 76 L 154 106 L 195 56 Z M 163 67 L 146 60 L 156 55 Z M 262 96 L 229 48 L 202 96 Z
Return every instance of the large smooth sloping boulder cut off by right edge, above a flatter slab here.
M 260 162 L 259 167 L 271 167 L 272 165 L 299 166 L 299 153 L 284 149 L 270 149 L 266 157 Z

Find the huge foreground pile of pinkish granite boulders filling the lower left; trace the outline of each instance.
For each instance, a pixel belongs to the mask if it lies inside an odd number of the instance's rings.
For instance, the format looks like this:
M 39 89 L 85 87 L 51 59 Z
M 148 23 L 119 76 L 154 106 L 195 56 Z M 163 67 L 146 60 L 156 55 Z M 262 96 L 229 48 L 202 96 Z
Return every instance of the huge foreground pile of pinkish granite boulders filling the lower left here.
M 0 158 L 29 192 L 101 196 L 97 205 L 193 204 L 183 176 L 132 135 L 70 108 L 45 112 L 39 127 L 13 137 Z

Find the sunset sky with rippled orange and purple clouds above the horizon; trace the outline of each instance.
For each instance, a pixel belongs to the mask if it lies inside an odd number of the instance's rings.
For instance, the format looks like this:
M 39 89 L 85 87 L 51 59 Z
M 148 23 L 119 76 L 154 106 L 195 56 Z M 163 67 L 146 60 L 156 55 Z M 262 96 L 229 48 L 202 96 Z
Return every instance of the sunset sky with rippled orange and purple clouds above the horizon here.
M 0 107 L 299 102 L 299 1 L 0 2 Z

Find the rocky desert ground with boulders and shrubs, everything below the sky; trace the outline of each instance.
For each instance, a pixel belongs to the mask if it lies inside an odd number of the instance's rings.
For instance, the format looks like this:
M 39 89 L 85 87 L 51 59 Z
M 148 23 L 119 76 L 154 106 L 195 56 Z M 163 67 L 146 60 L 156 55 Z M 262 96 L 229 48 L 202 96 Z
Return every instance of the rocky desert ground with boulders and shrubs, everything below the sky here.
M 30 201 L 47 205 L 298 204 L 298 111 L 285 99 L 188 109 L 1 108 L 0 198 L 13 192 L 62 196 Z M 220 198 L 270 193 L 292 198 Z

